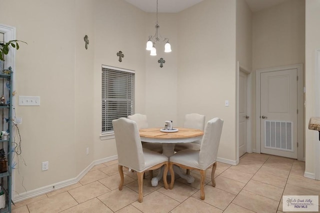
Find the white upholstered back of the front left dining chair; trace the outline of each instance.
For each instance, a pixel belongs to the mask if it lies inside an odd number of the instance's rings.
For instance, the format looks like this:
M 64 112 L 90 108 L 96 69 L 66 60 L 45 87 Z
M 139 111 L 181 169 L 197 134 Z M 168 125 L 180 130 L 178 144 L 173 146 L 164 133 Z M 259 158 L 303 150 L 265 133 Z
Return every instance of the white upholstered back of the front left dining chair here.
M 141 170 L 144 167 L 144 156 L 135 121 L 120 117 L 112 120 L 118 164 Z

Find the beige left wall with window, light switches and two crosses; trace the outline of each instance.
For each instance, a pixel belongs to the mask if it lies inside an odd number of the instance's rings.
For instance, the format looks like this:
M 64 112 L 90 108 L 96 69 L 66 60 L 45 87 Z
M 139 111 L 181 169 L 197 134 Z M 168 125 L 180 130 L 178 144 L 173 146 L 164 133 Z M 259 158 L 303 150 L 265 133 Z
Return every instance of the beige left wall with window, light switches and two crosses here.
M 101 64 L 136 71 L 135 108 L 144 111 L 145 13 L 124 0 L 0 0 L 0 5 L 5 5 L 0 22 L 15 26 L 17 39 L 28 43 L 16 54 L 15 101 L 18 95 L 41 98 L 40 106 L 15 108 L 22 117 L 22 154 L 14 172 L 20 195 L 13 197 L 19 199 L 68 183 L 94 160 L 116 155 L 114 140 L 99 138 Z M 7 8 L 14 8 L 14 15 Z M 49 161 L 47 171 L 41 171 L 42 161 Z

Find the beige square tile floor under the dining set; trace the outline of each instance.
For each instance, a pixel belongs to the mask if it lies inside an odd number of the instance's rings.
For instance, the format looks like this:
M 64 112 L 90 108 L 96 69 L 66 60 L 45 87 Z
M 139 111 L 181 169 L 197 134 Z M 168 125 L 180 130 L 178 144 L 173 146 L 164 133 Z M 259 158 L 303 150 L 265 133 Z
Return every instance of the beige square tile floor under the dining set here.
M 236 166 L 217 163 L 215 187 L 207 170 L 205 200 L 199 199 L 199 174 L 191 171 L 195 181 L 177 178 L 172 190 L 163 182 L 152 187 L 147 175 L 139 203 L 136 173 L 125 169 L 119 191 L 113 160 L 94 166 L 74 185 L 16 203 L 12 212 L 281 212 L 282 195 L 320 195 L 320 181 L 304 178 L 303 172 L 304 162 L 246 153 Z

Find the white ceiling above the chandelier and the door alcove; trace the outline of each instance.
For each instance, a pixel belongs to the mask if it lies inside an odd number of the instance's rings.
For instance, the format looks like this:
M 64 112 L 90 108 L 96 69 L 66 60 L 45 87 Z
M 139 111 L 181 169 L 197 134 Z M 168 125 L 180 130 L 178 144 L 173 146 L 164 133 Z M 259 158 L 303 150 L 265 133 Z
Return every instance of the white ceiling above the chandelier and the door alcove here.
M 156 12 L 156 0 L 125 0 L 145 12 Z M 202 0 L 158 0 L 158 12 L 179 12 Z M 252 12 L 256 12 L 285 0 L 246 0 Z

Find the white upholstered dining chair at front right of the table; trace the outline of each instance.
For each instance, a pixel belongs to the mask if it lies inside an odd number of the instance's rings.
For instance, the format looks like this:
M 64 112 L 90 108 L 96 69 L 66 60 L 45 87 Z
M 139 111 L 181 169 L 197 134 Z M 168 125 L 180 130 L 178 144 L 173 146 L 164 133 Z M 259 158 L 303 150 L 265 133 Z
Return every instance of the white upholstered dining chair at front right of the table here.
M 205 170 L 212 166 L 211 181 L 215 187 L 214 172 L 216 169 L 216 155 L 222 132 L 223 120 L 215 117 L 206 123 L 202 137 L 200 150 L 184 149 L 176 152 L 169 158 L 169 170 L 171 182 L 169 188 L 173 188 L 174 172 L 173 165 L 181 168 L 195 169 L 200 172 L 200 199 L 204 200 Z

